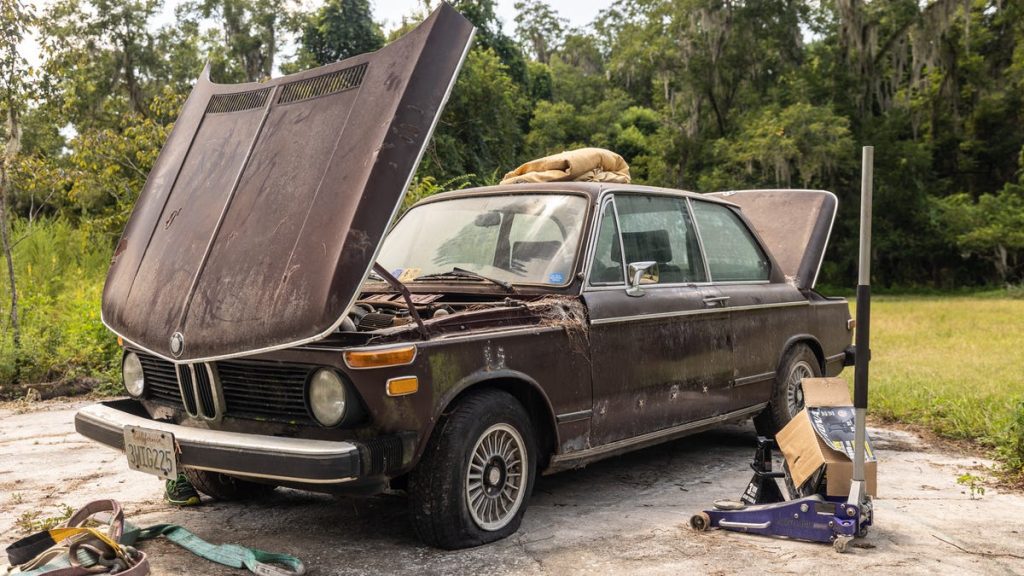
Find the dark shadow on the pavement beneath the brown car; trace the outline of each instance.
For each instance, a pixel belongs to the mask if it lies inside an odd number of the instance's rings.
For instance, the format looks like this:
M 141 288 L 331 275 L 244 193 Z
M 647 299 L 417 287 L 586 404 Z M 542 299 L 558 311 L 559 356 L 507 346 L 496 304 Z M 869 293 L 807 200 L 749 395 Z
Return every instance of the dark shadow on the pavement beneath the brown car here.
M 715 486 L 722 475 L 740 478 L 739 488 L 733 490 L 733 497 L 738 497 L 750 478 L 743 470 L 749 471 L 755 443 L 750 423 L 732 425 L 540 477 L 517 534 L 454 552 L 417 539 L 408 518 L 408 499 L 399 492 L 332 497 L 279 489 L 259 502 L 208 502 L 196 509 L 174 510 L 170 520 L 211 541 L 293 553 L 319 574 L 412 574 L 428 567 L 475 572 L 496 559 L 509 570 L 522 569 L 520 563 L 529 562 L 523 549 L 531 542 L 563 534 L 599 540 L 629 532 L 643 522 L 639 517 L 630 520 L 630 513 L 673 506 L 688 510 L 694 504 L 681 500 Z M 712 497 L 700 500 L 710 503 Z M 695 511 L 686 510 L 676 513 Z M 681 521 L 685 518 L 680 516 Z M 166 549 L 165 544 L 156 546 L 158 554 Z

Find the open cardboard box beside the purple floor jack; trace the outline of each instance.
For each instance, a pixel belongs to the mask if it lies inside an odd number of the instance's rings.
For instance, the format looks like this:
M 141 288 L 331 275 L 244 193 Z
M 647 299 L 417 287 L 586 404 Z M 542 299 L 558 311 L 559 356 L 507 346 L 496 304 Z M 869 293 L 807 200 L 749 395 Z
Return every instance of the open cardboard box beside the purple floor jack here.
M 853 477 L 853 402 L 842 378 L 804 378 L 804 410 L 775 437 L 797 486 L 825 477 L 828 496 L 850 494 Z M 878 462 L 870 441 L 865 443 L 864 481 L 876 495 Z

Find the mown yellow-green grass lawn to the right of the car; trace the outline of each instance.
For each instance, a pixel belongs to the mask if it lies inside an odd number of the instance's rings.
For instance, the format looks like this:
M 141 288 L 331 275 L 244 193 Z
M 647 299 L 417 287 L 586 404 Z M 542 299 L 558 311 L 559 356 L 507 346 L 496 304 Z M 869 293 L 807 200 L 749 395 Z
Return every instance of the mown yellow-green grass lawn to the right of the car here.
M 871 308 L 869 412 L 978 441 L 1021 471 L 1024 299 L 877 296 Z

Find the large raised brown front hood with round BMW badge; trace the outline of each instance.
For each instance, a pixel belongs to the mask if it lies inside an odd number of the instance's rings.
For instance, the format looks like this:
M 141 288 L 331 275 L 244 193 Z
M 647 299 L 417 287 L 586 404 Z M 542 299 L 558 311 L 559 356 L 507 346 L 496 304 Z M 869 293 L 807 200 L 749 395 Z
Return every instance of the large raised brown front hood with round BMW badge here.
M 374 53 L 265 83 L 204 71 L 115 251 L 103 323 L 178 363 L 336 330 L 472 36 L 441 3 Z

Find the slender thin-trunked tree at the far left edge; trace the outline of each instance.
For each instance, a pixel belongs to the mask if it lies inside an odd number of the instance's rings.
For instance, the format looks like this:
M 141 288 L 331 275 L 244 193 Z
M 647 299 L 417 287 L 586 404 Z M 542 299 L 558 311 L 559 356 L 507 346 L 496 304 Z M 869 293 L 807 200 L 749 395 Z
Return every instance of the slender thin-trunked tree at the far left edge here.
M 0 158 L 0 240 L 7 261 L 7 282 L 10 289 L 10 327 L 14 344 L 13 383 L 20 378 L 22 327 L 17 318 L 17 283 L 14 278 L 14 257 L 10 241 L 8 196 L 10 173 L 22 147 L 22 111 L 31 90 L 28 61 L 17 46 L 35 22 L 31 7 L 20 0 L 0 0 L 0 109 L 4 112 L 4 153 Z

